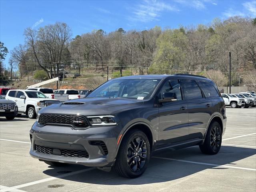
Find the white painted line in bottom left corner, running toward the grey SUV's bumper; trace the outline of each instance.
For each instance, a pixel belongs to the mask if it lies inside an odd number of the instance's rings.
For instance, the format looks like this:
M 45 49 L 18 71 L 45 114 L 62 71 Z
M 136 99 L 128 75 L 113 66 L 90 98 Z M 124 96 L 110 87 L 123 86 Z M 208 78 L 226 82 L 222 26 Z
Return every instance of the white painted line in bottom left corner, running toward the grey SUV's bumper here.
M 35 184 L 38 184 L 38 183 L 43 183 L 43 182 L 51 181 L 51 180 L 54 180 L 54 179 L 63 178 L 63 177 L 71 176 L 71 175 L 74 175 L 74 174 L 87 172 L 87 171 L 90 171 L 90 170 L 93 170 L 93 169 L 96 169 L 96 168 L 91 167 L 91 168 L 88 168 L 88 169 L 83 169 L 83 170 L 79 170 L 79 171 L 75 171 L 75 172 L 71 172 L 71 173 L 61 174 L 61 175 L 58 175 L 58 176 L 55 176 L 55 177 L 49 177 L 49 178 L 46 178 L 46 179 L 41 179 L 41 180 L 37 180 L 37 181 L 33 181 L 33 182 L 21 184 L 21 185 L 16 185 L 16 186 L 13 186 L 11 188 L 14 188 L 14 189 L 23 188 L 23 187 L 35 185 Z M 1 192 L 7 192 L 7 191 L 9 191 L 9 190 L 8 189 L 1 190 Z

